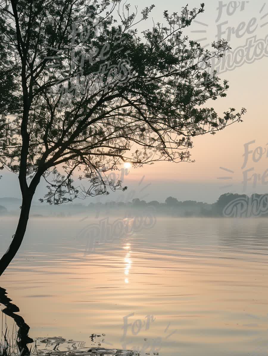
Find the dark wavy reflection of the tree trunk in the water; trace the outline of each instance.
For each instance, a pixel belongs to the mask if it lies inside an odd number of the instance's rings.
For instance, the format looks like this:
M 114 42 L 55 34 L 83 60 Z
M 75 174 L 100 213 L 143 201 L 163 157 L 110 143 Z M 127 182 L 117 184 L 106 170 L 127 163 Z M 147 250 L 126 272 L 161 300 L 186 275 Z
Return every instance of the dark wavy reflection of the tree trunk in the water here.
M 25 323 L 22 316 L 15 314 L 19 312 L 20 309 L 17 307 L 17 305 L 10 303 L 11 301 L 12 299 L 7 297 L 6 289 L 0 287 L 0 303 L 5 305 L 6 307 L 2 310 L 2 313 L 7 316 L 10 316 L 10 318 L 15 321 L 16 325 L 19 328 L 19 331 L 17 332 L 16 341 L 19 347 L 20 355 L 30 355 L 30 351 L 27 346 L 27 344 L 33 342 L 33 339 L 28 336 L 30 326 Z

